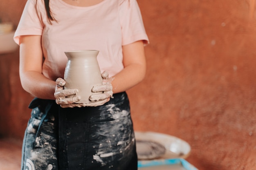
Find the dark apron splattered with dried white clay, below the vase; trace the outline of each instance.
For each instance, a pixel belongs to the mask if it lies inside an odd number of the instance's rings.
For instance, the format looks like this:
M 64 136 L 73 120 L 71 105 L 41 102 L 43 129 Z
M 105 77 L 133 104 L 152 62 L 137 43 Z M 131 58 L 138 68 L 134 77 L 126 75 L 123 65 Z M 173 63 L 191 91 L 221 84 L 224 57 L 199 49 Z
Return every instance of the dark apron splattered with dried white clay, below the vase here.
M 126 93 L 98 107 L 60 108 L 35 99 L 30 108 L 22 170 L 137 170 Z

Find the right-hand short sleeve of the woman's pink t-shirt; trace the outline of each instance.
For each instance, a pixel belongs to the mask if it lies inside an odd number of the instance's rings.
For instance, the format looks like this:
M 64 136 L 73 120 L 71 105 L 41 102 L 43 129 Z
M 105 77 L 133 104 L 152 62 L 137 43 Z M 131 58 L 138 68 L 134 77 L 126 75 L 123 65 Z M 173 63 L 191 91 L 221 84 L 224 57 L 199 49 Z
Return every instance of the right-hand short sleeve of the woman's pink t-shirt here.
M 122 45 L 143 40 L 144 45 L 149 43 L 141 11 L 136 0 L 122 0 L 119 8 Z

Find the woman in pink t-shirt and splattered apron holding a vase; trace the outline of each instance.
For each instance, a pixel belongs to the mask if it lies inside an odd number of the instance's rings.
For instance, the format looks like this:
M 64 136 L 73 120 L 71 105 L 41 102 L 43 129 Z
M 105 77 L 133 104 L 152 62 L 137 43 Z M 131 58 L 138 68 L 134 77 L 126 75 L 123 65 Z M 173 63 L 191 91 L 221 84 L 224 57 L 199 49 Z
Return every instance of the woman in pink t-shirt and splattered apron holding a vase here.
M 136 0 L 28 0 L 14 40 L 22 87 L 36 97 L 21 169 L 136 170 L 125 91 L 145 76 L 148 43 Z M 92 104 L 76 104 L 78 90 L 64 90 L 64 51 L 81 49 L 99 50 L 109 74 L 92 89 L 105 92 Z

